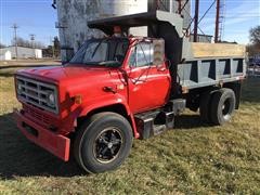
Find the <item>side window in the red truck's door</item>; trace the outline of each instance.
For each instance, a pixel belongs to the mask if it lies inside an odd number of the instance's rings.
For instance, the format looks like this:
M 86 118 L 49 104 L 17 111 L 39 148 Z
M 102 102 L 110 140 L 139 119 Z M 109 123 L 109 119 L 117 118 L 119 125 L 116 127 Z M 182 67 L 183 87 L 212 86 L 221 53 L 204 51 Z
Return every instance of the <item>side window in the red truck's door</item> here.
M 131 67 L 142 67 L 153 65 L 154 51 L 153 44 L 141 42 L 134 49 L 130 56 Z

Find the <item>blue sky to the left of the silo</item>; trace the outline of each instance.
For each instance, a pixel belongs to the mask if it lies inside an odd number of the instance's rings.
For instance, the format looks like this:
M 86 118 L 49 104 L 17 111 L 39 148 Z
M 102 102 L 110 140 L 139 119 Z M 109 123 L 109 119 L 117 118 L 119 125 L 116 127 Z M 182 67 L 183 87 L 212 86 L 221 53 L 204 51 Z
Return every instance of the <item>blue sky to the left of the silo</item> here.
M 11 26 L 16 23 L 18 37 L 29 39 L 29 35 L 35 34 L 37 41 L 50 44 L 51 37 L 57 35 L 56 11 L 51 3 L 51 0 L 0 0 L 0 42 L 11 43 Z

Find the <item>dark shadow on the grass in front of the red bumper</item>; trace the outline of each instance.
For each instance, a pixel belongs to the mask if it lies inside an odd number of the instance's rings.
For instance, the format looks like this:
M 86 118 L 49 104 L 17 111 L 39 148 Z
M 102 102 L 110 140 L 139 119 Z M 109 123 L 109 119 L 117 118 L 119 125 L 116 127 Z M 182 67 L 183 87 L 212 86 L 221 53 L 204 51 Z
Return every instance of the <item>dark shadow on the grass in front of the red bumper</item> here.
M 81 174 L 84 172 L 74 160 L 63 162 L 26 140 L 12 114 L 0 116 L 0 178 Z

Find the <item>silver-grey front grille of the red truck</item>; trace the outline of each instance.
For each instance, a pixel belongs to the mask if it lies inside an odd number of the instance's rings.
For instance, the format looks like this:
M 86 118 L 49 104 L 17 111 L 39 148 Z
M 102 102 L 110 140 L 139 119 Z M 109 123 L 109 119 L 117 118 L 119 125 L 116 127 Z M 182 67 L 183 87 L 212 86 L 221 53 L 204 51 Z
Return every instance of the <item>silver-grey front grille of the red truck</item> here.
M 37 80 L 16 77 L 17 95 L 22 101 L 32 104 L 44 110 L 49 110 L 57 114 L 57 91 L 56 87 L 48 83 L 43 83 Z M 51 104 L 48 95 L 54 94 L 54 104 Z

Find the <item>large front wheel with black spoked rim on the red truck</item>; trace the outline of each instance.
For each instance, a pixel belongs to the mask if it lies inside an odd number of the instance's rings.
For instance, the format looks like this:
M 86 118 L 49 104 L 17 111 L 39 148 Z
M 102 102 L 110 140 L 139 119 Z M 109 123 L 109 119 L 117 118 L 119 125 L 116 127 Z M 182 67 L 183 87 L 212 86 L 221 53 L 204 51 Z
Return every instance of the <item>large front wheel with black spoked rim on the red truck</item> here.
M 91 173 L 116 169 L 128 157 L 132 139 L 132 128 L 122 116 L 115 113 L 93 115 L 76 136 L 76 160 Z

